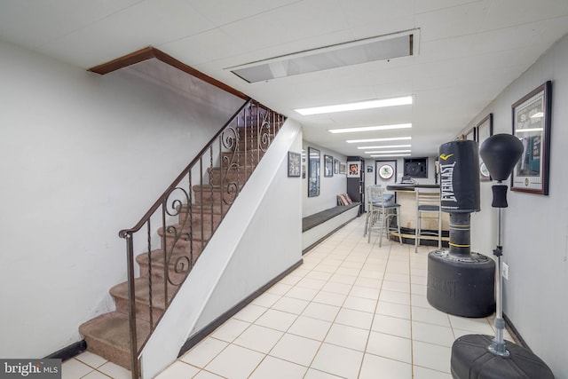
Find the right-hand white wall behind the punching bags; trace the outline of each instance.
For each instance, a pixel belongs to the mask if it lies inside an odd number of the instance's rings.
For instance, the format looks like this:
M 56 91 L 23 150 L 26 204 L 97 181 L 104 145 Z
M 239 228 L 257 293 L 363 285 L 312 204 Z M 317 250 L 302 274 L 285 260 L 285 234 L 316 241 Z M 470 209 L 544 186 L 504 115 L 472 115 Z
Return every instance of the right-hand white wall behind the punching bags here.
M 548 196 L 509 191 L 503 209 L 504 312 L 531 349 L 557 379 L 568 378 L 568 36 L 538 59 L 478 114 L 475 125 L 493 113 L 494 133 L 511 133 L 511 105 L 546 81 L 552 81 L 552 132 Z M 494 183 L 493 183 L 494 184 Z M 509 185 L 509 181 L 506 183 Z M 472 248 L 487 255 L 497 243 L 492 183 L 481 184 L 482 211 L 472 217 Z

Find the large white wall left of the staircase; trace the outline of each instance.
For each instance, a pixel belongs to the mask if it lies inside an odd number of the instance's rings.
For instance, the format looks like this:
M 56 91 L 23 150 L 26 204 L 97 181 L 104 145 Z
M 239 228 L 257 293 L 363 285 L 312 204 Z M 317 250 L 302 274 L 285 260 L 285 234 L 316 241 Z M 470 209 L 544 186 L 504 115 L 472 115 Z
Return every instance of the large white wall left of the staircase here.
M 226 118 L 119 72 L 0 43 L 0 357 L 40 358 L 114 307 L 133 226 Z M 219 112 L 233 114 L 241 99 Z M 229 111 L 230 109 L 230 111 Z

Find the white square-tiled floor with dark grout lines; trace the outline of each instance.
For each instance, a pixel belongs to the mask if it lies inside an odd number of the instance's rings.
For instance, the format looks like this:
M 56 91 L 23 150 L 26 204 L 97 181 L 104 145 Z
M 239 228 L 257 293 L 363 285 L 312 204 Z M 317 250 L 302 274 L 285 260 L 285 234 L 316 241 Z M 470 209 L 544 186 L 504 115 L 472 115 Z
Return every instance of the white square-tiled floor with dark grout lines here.
M 363 237 L 364 217 L 321 242 L 304 265 L 177 359 L 158 379 L 450 379 L 450 348 L 493 335 L 493 317 L 466 319 L 426 299 L 429 247 Z M 512 340 L 509 333 L 506 338 Z M 90 352 L 63 378 L 128 379 Z

